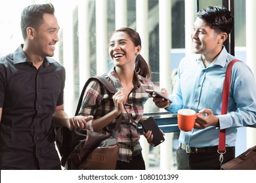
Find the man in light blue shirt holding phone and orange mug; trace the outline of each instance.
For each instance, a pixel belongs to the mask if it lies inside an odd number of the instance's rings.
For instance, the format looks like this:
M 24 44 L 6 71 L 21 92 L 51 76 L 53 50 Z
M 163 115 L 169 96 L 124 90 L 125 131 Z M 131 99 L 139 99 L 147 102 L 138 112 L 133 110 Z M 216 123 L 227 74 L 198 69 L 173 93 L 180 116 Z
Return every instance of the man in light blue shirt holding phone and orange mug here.
M 256 85 L 251 69 L 238 61 L 232 68 L 228 113 L 221 115 L 226 67 L 234 56 L 228 54 L 226 41 L 234 24 L 224 7 L 207 7 L 197 14 L 192 29 L 193 55 L 181 60 L 172 103 L 154 97 L 160 108 L 177 113 L 191 108 L 203 116 L 196 118 L 194 129 L 181 131 L 177 149 L 178 169 L 220 169 L 219 129 L 226 129 L 223 163 L 234 158 L 238 127 L 256 123 Z M 163 95 L 168 95 L 162 89 Z

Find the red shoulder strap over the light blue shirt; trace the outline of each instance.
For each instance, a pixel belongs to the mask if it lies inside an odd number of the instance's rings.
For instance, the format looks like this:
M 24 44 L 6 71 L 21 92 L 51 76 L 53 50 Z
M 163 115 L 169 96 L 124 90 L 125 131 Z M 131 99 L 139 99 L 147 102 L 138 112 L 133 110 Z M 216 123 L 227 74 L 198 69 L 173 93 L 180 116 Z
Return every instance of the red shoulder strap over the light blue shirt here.
M 223 104 L 221 109 L 221 114 L 226 114 L 228 112 L 228 97 L 230 93 L 230 82 L 231 82 L 231 73 L 232 73 L 232 66 L 236 61 L 240 61 L 238 59 L 233 59 L 228 63 L 228 67 L 226 68 L 226 75 L 224 78 L 223 84 Z M 226 152 L 226 129 L 221 129 L 219 131 L 219 146 L 218 152 L 224 153 Z

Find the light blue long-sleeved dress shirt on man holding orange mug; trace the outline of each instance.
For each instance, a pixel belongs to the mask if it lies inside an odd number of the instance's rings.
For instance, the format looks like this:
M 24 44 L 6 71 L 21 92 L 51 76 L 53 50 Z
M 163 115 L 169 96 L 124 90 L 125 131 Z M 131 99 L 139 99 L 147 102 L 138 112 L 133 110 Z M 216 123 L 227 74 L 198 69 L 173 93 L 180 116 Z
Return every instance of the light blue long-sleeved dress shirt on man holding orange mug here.
M 181 108 L 198 112 L 203 108 L 213 110 L 219 117 L 221 129 L 226 129 L 226 146 L 235 146 L 238 127 L 256 124 L 256 85 L 251 69 L 242 61 L 232 67 L 228 113 L 221 115 L 223 82 L 226 67 L 234 56 L 226 52 L 219 54 L 215 62 L 205 68 L 202 56 L 193 54 L 181 60 L 174 92 L 169 95 L 173 103 L 166 108 L 177 113 Z M 179 141 L 192 147 L 217 146 L 219 129 L 210 126 L 205 129 L 181 131 Z

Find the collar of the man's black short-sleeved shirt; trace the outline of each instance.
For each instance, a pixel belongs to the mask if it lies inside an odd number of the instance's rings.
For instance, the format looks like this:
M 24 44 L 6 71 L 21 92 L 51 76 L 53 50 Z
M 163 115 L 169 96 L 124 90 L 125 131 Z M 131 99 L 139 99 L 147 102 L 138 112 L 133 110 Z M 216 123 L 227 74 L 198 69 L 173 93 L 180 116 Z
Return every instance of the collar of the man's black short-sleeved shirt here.
M 18 48 L 14 51 L 14 53 L 13 53 L 13 63 L 14 64 L 31 62 L 27 58 L 24 51 L 22 50 L 23 46 L 24 46 L 24 44 L 20 44 L 20 46 L 18 46 Z M 49 65 L 49 63 L 54 63 L 54 62 L 56 62 L 56 61 L 52 58 L 49 58 L 49 57 L 45 57 L 45 59 L 44 59 L 44 64 L 45 65 Z

